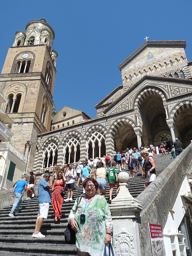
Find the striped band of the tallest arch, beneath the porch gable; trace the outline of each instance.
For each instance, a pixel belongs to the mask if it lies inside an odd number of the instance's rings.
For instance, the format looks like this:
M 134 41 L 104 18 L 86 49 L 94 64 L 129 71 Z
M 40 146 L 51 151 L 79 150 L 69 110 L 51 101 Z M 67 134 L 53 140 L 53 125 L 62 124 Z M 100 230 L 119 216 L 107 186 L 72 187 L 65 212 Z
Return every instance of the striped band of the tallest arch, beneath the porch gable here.
M 138 92 L 138 94 L 136 94 L 133 102 L 133 109 L 139 109 L 142 104 L 142 101 L 149 95 L 160 96 L 163 102 L 166 102 L 166 95 L 162 90 L 160 90 L 159 88 L 157 89 L 155 87 L 148 86 L 144 88 L 144 90 L 142 89 L 140 90 L 140 92 Z

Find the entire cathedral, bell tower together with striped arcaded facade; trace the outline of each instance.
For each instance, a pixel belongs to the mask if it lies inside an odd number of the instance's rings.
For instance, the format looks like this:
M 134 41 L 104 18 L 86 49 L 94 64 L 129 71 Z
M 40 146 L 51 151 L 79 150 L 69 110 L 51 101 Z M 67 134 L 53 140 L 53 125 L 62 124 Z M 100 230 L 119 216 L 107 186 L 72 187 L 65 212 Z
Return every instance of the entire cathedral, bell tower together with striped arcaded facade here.
M 16 32 L 0 76 L 2 109 L 27 172 L 102 157 L 114 150 L 192 140 L 192 62 L 185 41 L 147 41 L 118 68 L 122 85 L 96 106 L 97 116 L 64 106 L 52 118 L 54 30 L 44 20 Z M 50 128 L 51 127 L 51 128 Z

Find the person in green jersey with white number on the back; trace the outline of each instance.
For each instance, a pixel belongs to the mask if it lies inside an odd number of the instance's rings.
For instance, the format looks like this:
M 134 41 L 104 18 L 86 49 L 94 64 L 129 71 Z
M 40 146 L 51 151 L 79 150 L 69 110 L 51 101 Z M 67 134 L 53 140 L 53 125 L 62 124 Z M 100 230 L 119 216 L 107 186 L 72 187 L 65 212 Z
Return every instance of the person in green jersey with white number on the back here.
M 117 196 L 117 193 L 119 192 L 119 189 L 120 189 L 118 177 L 117 177 L 118 173 L 119 173 L 119 170 L 118 170 L 118 168 L 116 168 L 116 162 L 112 162 L 112 167 L 110 167 L 106 173 L 107 180 L 109 182 L 109 187 L 110 187 L 110 191 L 109 191 L 109 203 L 110 204 L 111 204 L 111 200 L 112 200 L 112 192 L 113 192 L 114 186 L 116 186 L 116 185 L 118 186 L 118 188 L 115 192 L 115 196 Z

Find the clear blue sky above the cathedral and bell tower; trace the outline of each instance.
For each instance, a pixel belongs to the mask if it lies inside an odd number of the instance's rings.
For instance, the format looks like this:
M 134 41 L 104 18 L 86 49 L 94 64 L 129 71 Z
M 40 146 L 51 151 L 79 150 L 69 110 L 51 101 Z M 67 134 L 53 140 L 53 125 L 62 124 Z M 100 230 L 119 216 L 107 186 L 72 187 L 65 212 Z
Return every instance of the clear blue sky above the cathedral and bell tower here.
M 192 60 L 191 1 L 3 1 L 0 70 L 15 32 L 45 18 L 58 52 L 53 100 L 96 116 L 94 106 L 122 84 L 118 65 L 148 40 L 186 40 Z

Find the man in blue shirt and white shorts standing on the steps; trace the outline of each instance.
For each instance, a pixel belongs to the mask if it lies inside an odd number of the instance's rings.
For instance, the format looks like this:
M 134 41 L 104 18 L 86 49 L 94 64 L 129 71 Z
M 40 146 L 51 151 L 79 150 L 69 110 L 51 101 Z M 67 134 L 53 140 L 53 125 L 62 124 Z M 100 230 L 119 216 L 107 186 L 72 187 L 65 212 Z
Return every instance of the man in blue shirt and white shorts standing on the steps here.
M 50 184 L 48 181 L 50 180 Z M 53 178 L 49 173 L 45 173 L 43 178 L 40 179 L 38 184 L 38 206 L 39 212 L 35 224 L 35 231 L 32 234 L 32 237 L 45 237 L 40 232 L 40 228 L 43 224 L 43 220 L 48 216 L 49 203 L 51 203 L 51 192 L 50 189 L 53 186 Z

